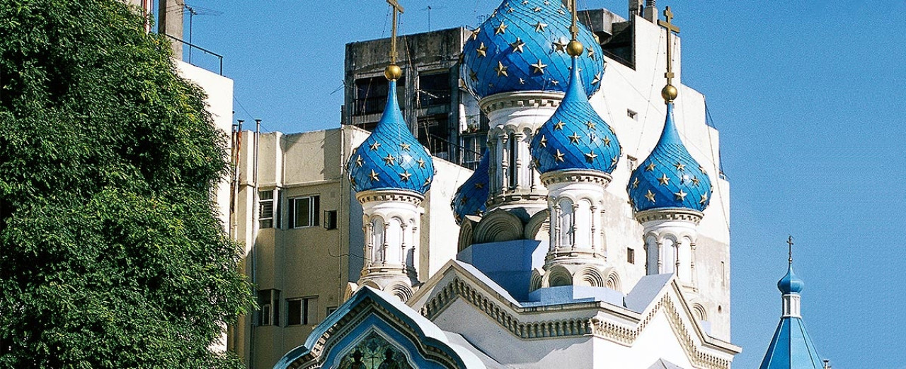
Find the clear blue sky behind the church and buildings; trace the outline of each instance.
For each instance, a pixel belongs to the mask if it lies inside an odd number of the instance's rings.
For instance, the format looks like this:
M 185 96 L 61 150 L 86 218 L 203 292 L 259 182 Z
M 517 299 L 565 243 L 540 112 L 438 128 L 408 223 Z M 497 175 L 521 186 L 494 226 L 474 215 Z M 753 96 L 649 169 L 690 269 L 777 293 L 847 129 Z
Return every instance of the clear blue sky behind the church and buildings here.
M 196 15 L 193 41 L 225 55 L 236 118 L 266 130 L 339 125 L 344 44 L 390 33 L 383 0 L 187 2 L 221 13 Z M 498 3 L 402 0 L 401 33 L 427 31 L 429 5 L 439 29 L 477 25 Z M 682 27 L 683 83 L 721 132 L 734 367 L 757 367 L 774 333 L 792 234 L 818 352 L 837 369 L 906 368 L 906 0 L 659 5 Z

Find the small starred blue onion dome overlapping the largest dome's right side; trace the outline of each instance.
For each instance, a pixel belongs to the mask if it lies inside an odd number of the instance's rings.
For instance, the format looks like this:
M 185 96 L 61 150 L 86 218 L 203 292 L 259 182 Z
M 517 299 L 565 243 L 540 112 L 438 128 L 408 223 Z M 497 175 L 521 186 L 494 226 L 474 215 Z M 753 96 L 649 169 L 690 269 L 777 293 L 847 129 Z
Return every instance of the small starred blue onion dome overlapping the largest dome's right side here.
M 558 170 L 595 170 L 611 174 L 620 159 L 616 134 L 588 102 L 573 58 L 573 74 L 563 101 L 541 128 L 530 146 L 541 173 Z

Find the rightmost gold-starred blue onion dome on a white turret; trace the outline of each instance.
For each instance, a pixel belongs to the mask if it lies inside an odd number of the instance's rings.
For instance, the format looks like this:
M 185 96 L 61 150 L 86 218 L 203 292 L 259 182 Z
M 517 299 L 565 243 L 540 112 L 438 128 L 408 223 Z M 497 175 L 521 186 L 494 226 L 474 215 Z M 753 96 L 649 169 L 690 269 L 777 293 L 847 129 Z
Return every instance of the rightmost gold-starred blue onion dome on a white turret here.
M 682 144 L 673 123 L 673 102 L 651 155 L 630 176 L 630 203 L 636 212 L 651 209 L 704 211 L 711 200 L 711 180 Z

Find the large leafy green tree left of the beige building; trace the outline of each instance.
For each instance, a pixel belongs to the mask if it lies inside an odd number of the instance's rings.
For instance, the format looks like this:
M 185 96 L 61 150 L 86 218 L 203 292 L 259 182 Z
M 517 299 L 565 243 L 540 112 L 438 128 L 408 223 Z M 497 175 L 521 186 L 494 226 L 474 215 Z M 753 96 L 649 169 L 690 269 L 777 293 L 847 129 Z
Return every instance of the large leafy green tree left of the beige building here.
M 0 368 L 239 367 L 226 137 L 117 0 L 0 0 Z

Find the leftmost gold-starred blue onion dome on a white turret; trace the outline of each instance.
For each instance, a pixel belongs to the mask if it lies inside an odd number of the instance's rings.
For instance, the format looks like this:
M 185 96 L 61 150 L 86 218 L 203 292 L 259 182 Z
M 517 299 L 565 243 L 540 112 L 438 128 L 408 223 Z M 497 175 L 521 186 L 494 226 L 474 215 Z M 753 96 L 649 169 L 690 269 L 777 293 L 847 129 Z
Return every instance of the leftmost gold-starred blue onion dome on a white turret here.
M 371 136 L 352 151 L 347 163 L 352 189 L 425 194 L 434 176 L 434 162 L 402 118 L 396 80 L 390 80 L 389 90 L 381 121 Z

